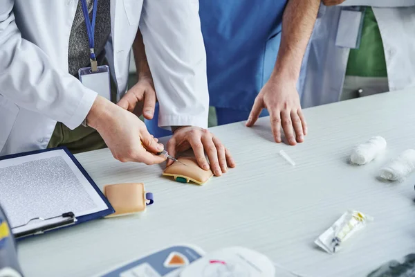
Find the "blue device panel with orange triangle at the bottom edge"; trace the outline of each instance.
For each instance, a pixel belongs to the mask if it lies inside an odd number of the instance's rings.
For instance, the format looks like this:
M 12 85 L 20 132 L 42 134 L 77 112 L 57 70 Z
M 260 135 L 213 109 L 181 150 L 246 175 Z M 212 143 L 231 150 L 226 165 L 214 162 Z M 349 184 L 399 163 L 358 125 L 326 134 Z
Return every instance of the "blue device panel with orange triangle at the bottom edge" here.
M 129 262 L 102 277 L 120 276 L 167 276 L 195 260 L 201 258 L 203 253 L 191 247 L 176 246 L 158 251 L 139 260 Z

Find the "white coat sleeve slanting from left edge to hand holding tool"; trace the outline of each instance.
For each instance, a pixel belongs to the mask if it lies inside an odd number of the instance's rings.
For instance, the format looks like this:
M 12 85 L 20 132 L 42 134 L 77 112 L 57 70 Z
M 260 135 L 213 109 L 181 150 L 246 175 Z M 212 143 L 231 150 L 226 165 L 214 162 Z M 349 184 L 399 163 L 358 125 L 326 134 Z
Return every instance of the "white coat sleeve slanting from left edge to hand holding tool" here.
M 0 0 L 0 94 L 74 129 L 88 114 L 97 93 L 55 67 L 41 48 L 21 37 L 13 4 Z

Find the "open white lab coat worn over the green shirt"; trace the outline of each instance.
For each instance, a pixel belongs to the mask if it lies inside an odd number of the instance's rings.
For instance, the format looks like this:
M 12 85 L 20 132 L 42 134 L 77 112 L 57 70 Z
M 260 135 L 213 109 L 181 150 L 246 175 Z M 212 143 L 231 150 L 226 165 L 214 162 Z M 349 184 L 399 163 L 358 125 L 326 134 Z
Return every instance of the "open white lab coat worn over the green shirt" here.
M 342 4 L 372 6 L 385 49 L 389 91 L 415 86 L 414 5 L 415 0 L 349 0 Z M 298 83 L 303 108 L 340 100 L 350 51 L 335 46 L 341 10 L 341 6 L 320 6 Z

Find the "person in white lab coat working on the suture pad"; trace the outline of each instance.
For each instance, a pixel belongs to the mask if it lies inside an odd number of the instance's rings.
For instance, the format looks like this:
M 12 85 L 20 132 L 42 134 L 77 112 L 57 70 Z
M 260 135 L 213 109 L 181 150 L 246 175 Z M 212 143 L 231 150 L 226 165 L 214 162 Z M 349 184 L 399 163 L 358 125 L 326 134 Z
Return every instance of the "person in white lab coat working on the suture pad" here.
M 140 24 L 161 125 L 187 126 L 184 141 L 196 146 L 196 157 L 206 167 L 207 150 L 215 175 L 234 166 L 228 150 L 205 130 L 209 96 L 198 2 L 0 0 L 0 155 L 107 145 L 120 161 L 163 161 L 151 154 L 163 145 L 136 115 L 114 104 L 127 90 L 130 49 L 142 43 L 135 39 Z M 89 66 L 93 55 L 84 18 L 94 14 L 92 48 L 98 65 L 108 62 L 111 69 L 113 102 L 77 79 L 78 69 Z

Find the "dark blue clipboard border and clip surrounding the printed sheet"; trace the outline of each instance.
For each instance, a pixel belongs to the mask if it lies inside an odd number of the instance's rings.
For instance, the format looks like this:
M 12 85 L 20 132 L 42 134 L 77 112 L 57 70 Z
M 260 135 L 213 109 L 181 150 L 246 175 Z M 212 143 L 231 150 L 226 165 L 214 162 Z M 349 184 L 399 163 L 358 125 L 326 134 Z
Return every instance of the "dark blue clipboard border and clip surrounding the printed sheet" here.
M 15 235 L 15 238 L 17 238 L 18 240 L 21 238 L 26 238 L 28 236 L 39 235 L 39 234 L 46 233 L 48 231 L 61 229 L 64 227 L 80 224 L 83 222 L 88 222 L 90 220 L 95 220 L 95 219 L 110 215 L 111 213 L 115 213 L 115 210 L 109 203 L 108 199 L 101 192 L 100 188 L 98 188 L 98 186 L 95 184 L 93 179 L 89 176 L 86 170 L 81 166 L 79 161 L 77 161 L 77 159 L 73 156 L 73 154 L 71 154 L 71 152 L 69 152 L 69 150 L 65 147 L 50 148 L 46 150 L 35 150 L 35 151 L 24 152 L 24 153 L 19 153 L 19 154 L 11 154 L 11 155 L 0 157 L 0 161 L 30 156 L 34 154 L 42 154 L 42 153 L 52 152 L 52 151 L 57 151 L 57 150 L 63 150 L 66 153 L 67 157 L 71 159 L 73 164 L 75 164 L 76 168 L 82 173 L 85 179 L 89 182 L 93 190 L 95 190 L 95 193 L 100 197 L 102 202 L 104 202 L 103 205 L 106 206 L 106 208 L 96 213 L 90 213 L 90 214 L 81 215 L 81 216 L 75 216 L 75 213 L 73 213 L 73 211 L 66 211 L 64 213 L 57 213 L 56 215 L 46 217 L 46 218 L 42 216 L 33 217 L 30 220 L 28 220 L 25 224 L 19 224 L 18 226 L 10 226 L 10 229 L 12 230 L 13 235 Z M 1 187 L 0 187 L 0 194 L 1 194 Z M 1 198 L 0 198 L 0 201 L 1 201 Z M 5 207 L 3 207 L 3 209 L 4 208 Z M 9 220 L 11 220 L 10 217 L 9 217 Z M 33 228 L 28 229 L 27 227 L 30 225 L 33 225 Z M 25 227 L 26 230 L 13 231 L 21 227 Z

